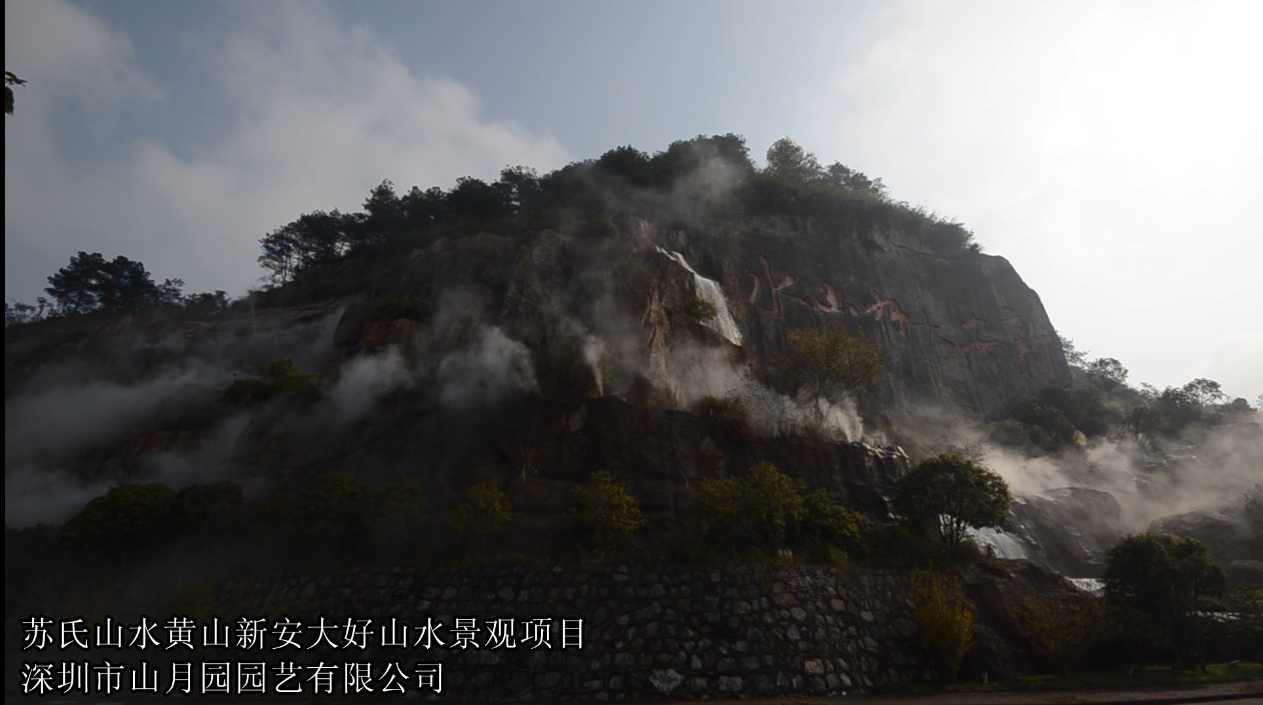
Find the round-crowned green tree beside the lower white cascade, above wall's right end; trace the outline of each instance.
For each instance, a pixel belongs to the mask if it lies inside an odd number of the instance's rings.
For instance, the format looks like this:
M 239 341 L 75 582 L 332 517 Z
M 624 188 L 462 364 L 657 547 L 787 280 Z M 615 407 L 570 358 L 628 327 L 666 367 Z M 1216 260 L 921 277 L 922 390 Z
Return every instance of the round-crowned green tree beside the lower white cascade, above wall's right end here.
M 899 479 L 894 508 L 904 521 L 933 528 L 955 548 L 966 528 L 1000 527 L 1009 512 L 1009 486 L 991 470 L 956 454 L 943 454 L 917 465 Z

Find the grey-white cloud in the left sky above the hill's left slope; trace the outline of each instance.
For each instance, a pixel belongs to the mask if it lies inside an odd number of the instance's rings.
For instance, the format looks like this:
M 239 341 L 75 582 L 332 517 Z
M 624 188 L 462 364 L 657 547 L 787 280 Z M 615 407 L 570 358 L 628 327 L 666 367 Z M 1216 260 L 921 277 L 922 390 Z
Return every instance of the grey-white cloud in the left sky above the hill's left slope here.
M 83 162 L 63 147 L 58 111 L 91 109 L 107 123 L 139 101 L 160 121 L 154 81 L 126 35 L 86 10 L 5 4 L 5 63 L 20 59 L 30 80 L 5 124 L 8 296 L 33 296 L 78 249 L 240 293 L 259 277 L 265 231 L 303 211 L 357 208 L 383 178 L 427 187 L 566 160 L 554 139 L 484 116 L 469 88 L 418 75 L 321 5 L 241 9 L 248 16 L 211 58 L 216 85 L 163 86 L 164 101 L 221 92 L 226 135 L 189 153 L 143 134 L 120 157 Z

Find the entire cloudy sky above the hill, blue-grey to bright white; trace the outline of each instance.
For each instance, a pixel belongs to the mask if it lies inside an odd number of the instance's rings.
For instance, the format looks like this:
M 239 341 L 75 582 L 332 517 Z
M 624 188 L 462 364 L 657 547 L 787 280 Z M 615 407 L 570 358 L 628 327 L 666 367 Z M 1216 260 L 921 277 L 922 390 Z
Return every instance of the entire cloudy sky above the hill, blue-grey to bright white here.
M 1263 394 L 1263 3 L 5 0 L 5 297 L 188 291 L 390 178 L 791 136 L 971 227 L 1130 382 Z

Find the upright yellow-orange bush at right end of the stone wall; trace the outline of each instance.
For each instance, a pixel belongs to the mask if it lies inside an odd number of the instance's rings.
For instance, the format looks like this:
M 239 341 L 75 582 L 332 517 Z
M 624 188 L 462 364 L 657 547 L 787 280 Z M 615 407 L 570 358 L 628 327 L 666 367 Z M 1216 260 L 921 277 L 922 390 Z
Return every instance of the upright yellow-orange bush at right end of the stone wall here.
M 917 624 L 938 677 L 955 681 L 960 663 L 974 643 L 974 610 L 960 582 L 945 575 L 919 576 L 914 588 Z

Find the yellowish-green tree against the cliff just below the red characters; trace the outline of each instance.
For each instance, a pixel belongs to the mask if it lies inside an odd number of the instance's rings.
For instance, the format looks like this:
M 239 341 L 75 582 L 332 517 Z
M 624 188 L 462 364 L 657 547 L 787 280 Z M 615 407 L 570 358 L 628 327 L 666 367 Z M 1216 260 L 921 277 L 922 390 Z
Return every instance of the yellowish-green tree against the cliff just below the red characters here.
M 816 398 L 856 392 L 882 373 L 882 351 L 840 328 L 792 331 L 789 349 L 777 361 L 781 377 Z

